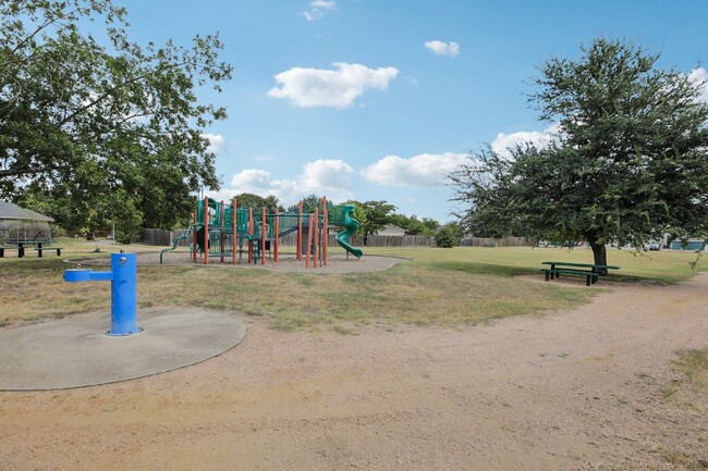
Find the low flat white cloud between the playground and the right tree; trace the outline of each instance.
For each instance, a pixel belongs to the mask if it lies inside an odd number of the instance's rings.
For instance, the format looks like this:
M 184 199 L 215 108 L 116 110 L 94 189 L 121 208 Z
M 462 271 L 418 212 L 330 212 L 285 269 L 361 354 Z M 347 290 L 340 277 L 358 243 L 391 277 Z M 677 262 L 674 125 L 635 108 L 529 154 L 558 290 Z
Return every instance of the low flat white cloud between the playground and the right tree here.
M 362 171 L 369 182 L 387 186 L 432 187 L 442 185 L 448 174 L 465 163 L 464 153 L 422 153 L 410 159 L 387 156 Z

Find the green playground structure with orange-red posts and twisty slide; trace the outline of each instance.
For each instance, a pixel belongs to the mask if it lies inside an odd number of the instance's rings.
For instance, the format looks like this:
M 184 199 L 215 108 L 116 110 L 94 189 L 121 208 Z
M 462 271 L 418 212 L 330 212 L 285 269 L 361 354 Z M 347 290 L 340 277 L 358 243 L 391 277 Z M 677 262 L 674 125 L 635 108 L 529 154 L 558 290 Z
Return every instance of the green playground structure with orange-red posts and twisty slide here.
M 305 259 L 305 267 L 316 268 L 327 264 L 328 226 L 339 225 L 344 230 L 335 235 L 337 243 L 357 259 L 363 252 L 350 245 L 350 236 L 359 228 L 359 223 L 351 213 L 354 206 L 329 206 L 322 198 L 313 213 L 303 213 L 302 202 L 297 210 L 267 213 L 266 208 L 259 211 L 253 208 L 239 208 L 236 199 L 231 204 L 217 202 L 211 198 L 197 201 L 193 214 L 193 223 L 187 231 L 173 240 L 172 247 L 160 252 L 160 263 L 167 251 L 176 249 L 180 241 L 190 241 L 191 255 L 197 262 L 202 253 L 204 263 L 210 258 L 221 262 L 242 263 L 244 256 L 247 263 L 266 263 L 266 253 L 272 252 L 274 262 L 279 259 L 280 239 L 296 233 L 296 259 Z

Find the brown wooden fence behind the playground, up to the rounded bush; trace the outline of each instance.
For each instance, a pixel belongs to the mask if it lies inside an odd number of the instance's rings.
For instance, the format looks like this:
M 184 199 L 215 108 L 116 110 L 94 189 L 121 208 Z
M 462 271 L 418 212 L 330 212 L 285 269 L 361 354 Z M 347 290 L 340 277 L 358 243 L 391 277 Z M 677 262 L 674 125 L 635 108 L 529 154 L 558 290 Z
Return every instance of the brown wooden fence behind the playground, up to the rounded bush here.
M 146 228 L 143 231 L 141 244 L 149 246 L 171 246 L 175 237 L 184 234 L 186 230 L 167 231 L 160 228 Z M 181 240 L 180 246 L 188 246 L 190 240 Z M 280 239 L 283 246 L 294 247 L 297 244 L 297 234 L 288 234 Z M 330 247 L 337 246 L 334 234 L 329 235 L 327 244 Z M 364 244 L 364 236 L 355 235 L 350 238 L 353 247 L 435 247 L 432 236 L 368 236 Z

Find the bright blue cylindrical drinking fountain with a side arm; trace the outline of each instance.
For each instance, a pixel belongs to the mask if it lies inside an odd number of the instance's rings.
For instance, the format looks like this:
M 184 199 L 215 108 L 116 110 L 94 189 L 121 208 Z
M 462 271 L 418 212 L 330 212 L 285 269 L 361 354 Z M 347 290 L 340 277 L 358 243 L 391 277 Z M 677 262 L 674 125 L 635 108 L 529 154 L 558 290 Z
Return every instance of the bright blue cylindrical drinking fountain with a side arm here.
M 69 283 L 111 282 L 111 330 L 108 335 L 137 334 L 137 255 L 111 253 L 111 271 L 64 270 Z

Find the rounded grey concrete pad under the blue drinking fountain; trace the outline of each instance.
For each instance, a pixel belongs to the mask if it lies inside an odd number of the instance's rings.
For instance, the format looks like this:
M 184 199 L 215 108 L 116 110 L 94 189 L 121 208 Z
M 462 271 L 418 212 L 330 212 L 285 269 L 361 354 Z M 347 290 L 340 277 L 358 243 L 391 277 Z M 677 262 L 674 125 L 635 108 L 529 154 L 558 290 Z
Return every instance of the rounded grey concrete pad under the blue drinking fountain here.
M 237 345 L 236 319 L 198 309 L 138 310 L 143 331 L 109 336 L 109 312 L 0 331 L 0 391 L 114 383 L 199 363 Z

